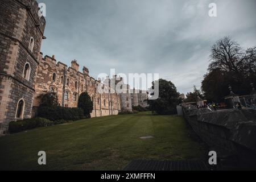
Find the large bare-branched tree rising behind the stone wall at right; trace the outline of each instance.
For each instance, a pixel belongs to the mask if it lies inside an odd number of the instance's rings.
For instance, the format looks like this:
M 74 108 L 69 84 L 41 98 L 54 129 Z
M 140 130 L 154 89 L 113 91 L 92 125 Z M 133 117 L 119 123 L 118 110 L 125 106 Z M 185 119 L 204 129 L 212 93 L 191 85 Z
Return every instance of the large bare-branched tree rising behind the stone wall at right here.
M 211 47 L 210 61 L 201 82 L 207 100 L 222 101 L 229 94 L 229 85 L 237 94 L 251 92 L 250 83 L 256 83 L 256 47 L 243 51 L 237 42 L 225 37 Z

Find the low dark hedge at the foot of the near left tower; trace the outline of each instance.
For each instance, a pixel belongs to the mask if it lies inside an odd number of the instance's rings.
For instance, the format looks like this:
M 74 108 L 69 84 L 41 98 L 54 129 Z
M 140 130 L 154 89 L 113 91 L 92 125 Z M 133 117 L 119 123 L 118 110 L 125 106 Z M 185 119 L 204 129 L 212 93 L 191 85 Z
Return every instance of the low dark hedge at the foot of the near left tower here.
M 44 118 L 23 119 L 21 121 L 12 121 L 9 123 L 9 131 L 18 133 L 24 130 L 34 129 L 36 127 L 52 126 L 53 122 Z

